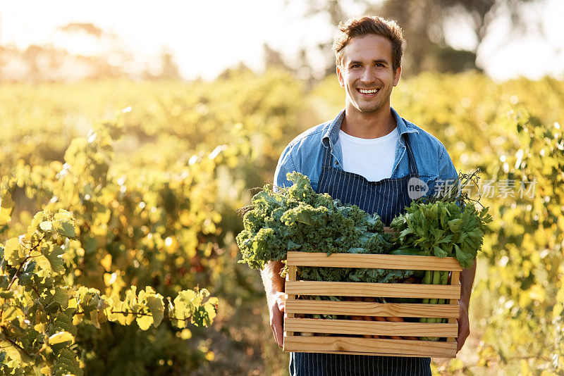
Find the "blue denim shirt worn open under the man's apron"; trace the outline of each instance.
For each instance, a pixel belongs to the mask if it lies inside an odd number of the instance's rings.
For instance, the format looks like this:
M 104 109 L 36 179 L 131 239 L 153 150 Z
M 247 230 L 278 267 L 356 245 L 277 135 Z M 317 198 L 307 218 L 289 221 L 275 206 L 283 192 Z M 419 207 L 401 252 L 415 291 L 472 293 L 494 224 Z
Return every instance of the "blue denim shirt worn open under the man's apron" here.
M 393 108 L 391 112 L 396 117 L 398 131 L 400 132 L 392 178 L 404 177 L 409 173 L 405 141 L 402 137 L 405 133 L 409 134 L 415 163 L 419 171 L 419 179 L 429 184 L 431 189 L 436 180 L 447 181 L 458 177 L 453 161 L 450 160 L 445 146 L 441 144 L 439 139 L 401 118 Z M 331 145 L 333 166 L 342 170 L 343 154 L 338 137 L 344 116 L 345 110 L 341 111 L 333 120 L 309 128 L 309 130 L 295 137 L 286 146 L 278 160 L 276 173 L 274 173 L 274 184 L 278 187 L 290 187 L 292 183 L 286 180 L 286 173 L 298 171 L 309 177 L 313 189 L 317 190 L 319 175 L 321 175 L 323 148 L 327 148 L 329 145 Z

